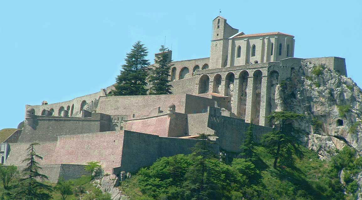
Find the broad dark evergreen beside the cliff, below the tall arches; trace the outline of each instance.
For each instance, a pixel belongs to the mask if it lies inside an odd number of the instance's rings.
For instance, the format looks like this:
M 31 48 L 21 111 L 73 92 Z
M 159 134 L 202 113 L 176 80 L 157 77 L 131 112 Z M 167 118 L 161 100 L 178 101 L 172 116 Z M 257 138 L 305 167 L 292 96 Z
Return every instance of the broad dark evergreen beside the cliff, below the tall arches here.
M 273 112 L 268 116 L 269 121 L 275 121 L 275 129 L 263 135 L 262 142 L 271 155 L 274 156 L 273 167 L 277 168 L 278 159 L 283 165 L 294 165 L 297 157 L 303 157 L 299 145 L 301 137 L 305 134 L 301 129 L 294 127 L 293 123 L 303 120 L 304 115 L 289 111 Z

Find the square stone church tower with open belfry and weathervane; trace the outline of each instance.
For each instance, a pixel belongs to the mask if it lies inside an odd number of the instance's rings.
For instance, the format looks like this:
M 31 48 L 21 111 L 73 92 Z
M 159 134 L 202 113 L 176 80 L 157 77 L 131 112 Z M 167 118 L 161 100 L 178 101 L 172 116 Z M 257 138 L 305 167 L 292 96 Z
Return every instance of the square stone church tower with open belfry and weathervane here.
M 227 65 L 228 38 L 239 30 L 226 23 L 226 19 L 218 16 L 212 21 L 212 38 L 210 52 L 210 68 L 221 68 Z

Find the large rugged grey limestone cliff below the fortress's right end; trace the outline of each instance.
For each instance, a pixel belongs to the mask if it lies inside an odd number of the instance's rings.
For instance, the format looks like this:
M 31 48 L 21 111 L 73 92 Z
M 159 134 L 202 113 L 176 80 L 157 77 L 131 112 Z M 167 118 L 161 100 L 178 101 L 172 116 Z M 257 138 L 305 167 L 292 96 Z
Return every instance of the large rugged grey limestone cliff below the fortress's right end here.
M 315 63 L 304 60 L 299 66 L 292 67 L 291 77 L 281 81 L 276 90 L 276 110 L 307 116 L 298 126 L 311 133 L 306 137 L 306 144 L 317 151 L 321 159 L 330 159 L 336 149 L 341 150 L 344 146 L 361 153 L 361 88 L 337 71 L 319 66 L 319 72 L 316 72 L 316 68 Z M 339 106 L 349 109 L 341 113 Z M 311 125 L 313 122 L 315 125 Z

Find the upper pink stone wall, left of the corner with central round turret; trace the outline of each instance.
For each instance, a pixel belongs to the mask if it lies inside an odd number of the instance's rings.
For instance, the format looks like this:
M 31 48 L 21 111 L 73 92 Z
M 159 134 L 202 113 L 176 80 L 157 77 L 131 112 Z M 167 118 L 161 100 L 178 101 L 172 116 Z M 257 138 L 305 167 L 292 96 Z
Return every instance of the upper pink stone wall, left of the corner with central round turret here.
M 170 117 L 168 115 L 162 115 L 127 121 L 125 130 L 168 137 L 169 124 Z

